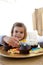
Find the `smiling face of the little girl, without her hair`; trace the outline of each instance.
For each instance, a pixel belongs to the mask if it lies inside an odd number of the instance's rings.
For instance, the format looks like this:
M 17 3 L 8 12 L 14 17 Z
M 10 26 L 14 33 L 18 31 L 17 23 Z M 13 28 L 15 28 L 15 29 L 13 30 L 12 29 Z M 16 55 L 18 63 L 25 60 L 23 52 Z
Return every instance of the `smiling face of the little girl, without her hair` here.
M 14 27 L 13 36 L 22 40 L 24 38 L 24 27 Z

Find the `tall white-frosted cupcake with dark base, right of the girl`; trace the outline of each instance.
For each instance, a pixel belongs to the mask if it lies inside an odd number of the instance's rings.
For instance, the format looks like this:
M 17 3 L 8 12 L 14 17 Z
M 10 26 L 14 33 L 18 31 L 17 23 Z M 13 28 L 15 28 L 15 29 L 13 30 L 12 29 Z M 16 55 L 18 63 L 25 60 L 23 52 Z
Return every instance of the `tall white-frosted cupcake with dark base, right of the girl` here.
M 37 40 L 37 32 L 36 31 L 31 31 L 28 33 L 27 42 L 29 45 L 31 45 L 31 48 L 38 47 L 38 40 Z

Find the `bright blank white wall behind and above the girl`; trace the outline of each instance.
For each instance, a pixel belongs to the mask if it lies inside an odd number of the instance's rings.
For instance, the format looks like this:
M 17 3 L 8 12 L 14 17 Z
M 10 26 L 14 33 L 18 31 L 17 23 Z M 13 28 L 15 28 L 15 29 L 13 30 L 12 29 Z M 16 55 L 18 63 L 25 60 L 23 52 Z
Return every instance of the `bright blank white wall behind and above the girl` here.
M 43 0 L 0 0 L 0 34 L 9 35 L 14 22 L 24 22 L 33 30 L 32 13 L 43 7 Z

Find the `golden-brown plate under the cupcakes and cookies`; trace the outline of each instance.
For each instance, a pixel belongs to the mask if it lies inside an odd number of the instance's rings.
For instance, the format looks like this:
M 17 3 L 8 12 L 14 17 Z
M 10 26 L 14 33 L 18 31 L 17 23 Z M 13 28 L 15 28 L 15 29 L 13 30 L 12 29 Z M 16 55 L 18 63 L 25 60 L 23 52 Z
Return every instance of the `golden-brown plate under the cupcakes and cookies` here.
M 0 55 L 3 57 L 8 57 L 8 58 L 29 58 L 29 57 L 35 57 L 35 56 L 40 56 L 43 55 L 43 52 L 39 52 L 39 53 L 30 53 L 27 55 L 23 55 L 23 54 L 9 54 L 8 52 L 3 50 L 3 47 L 0 47 Z

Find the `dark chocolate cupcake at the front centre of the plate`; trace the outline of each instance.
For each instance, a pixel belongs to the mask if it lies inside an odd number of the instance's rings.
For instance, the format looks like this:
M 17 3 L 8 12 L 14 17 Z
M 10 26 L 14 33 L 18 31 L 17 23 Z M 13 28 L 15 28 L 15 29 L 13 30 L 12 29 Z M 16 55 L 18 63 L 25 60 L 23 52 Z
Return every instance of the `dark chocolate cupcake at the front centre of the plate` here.
M 26 43 L 21 43 L 20 45 L 20 54 L 29 54 L 29 50 L 31 49 L 31 46 L 29 46 Z

